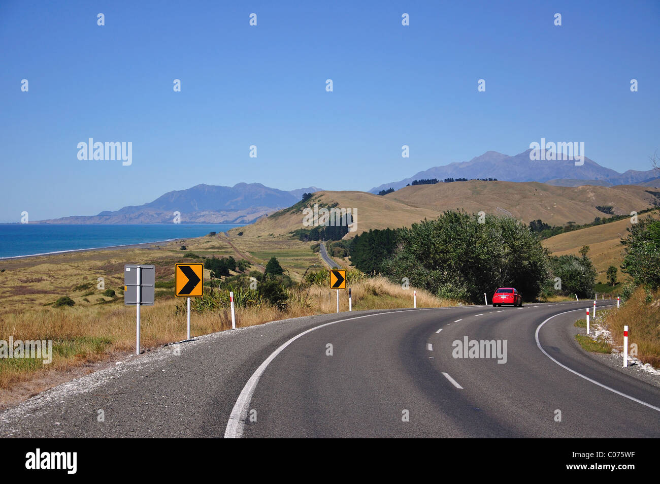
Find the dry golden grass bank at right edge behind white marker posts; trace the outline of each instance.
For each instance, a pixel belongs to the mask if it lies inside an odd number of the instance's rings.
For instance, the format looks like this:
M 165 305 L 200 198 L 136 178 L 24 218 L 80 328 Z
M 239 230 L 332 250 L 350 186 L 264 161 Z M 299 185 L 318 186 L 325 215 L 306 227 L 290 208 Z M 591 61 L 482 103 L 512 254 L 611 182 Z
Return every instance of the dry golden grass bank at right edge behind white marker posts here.
M 656 368 L 660 366 L 660 291 L 647 293 L 638 288 L 619 310 L 605 316 L 605 326 L 612 333 L 614 347 L 622 351 L 623 327 L 628 325 L 628 343 L 638 347 L 637 357 Z M 634 356 L 634 355 L 633 355 Z

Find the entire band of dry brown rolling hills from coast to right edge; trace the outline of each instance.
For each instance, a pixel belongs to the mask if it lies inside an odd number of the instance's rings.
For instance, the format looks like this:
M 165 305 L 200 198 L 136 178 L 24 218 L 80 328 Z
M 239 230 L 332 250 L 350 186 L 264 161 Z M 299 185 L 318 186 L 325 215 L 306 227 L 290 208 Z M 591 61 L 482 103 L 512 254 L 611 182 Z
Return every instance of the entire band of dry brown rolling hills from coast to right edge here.
M 595 207 L 612 205 L 617 215 L 653 206 L 654 195 L 638 186 L 555 187 L 536 182 L 453 182 L 416 185 L 402 188 L 385 196 L 363 191 L 319 191 L 305 203 L 263 217 L 253 225 L 231 230 L 246 237 L 288 236 L 302 225 L 302 210 L 315 203 L 341 208 L 357 208 L 357 231 L 371 228 L 410 226 L 424 217 L 438 217 L 442 211 L 463 208 L 469 213 L 511 215 L 529 223 L 541 219 L 550 225 L 593 222 L 595 217 L 607 217 Z

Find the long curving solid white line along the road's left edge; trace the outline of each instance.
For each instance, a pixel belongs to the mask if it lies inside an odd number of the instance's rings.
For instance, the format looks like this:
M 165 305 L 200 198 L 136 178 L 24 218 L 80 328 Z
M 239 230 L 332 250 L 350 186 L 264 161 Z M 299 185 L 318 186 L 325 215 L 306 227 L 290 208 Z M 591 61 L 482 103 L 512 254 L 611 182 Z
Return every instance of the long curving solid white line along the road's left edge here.
M 424 308 L 424 309 L 438 309 L 438 308 Z M 361 318 L 370 318 L 371 316 L 379 316 L 381 314 L 394 314 L 396 312 L 411 312 L 411 311 L 419 311 L 419 309 L 377 312 L 376 314 L 365 314 L 364 316 L 355 316 L 354 318 L 331 321 L 329 323 L 321 324 L 319 326 L 314 326 L 314 328 L 307 329 L 306 331 L 302 331 L 302 333 L 299 333 L 294 337 L 292 337 L 291 339 L 289 339 L 288 341 L 286 341 L 286 343 L 282 344 L 281 347 L 273 351 L 273 353 L 271 353 L 271 355 L 267 359 L 265 359 L 263 363 L 259 365 L 259 368 L 255 370 L 252 376 L 249 377 L 249 380 L 243 387 L 243 390 L 241 390 L 238 399 L 236 399 L 236 403 L 234 403 L 234 408 L 232 408 L 232 413 L 229 415 L 229 419 L 227 421 L 227 427 L 224 430 L 224 438 L 241 438 L 243 436 L 243 427 L 245 425 L 245 420 L 248 417 L 248 407 L 252 399 L 252 395 L 254 394 L 254 390 L 255 388 L 257 388 L 257 383 L 259 382 L 259 378 L 261 378 L 261 375 L 265 371 L 266 367 L 271 363 L 271 361 L 273 361 L 275 357 L 277 357 L 277 355 L 282 353 L 284 348 L 286 348 L 288 345 L 296 341 L 296 339 L 306 335 L 307 333 L 311 333 L 315 329 L 323 328 L 324 326 L 330 326 L 331 324 L 337 324 L 350 320 L 359 320 Z

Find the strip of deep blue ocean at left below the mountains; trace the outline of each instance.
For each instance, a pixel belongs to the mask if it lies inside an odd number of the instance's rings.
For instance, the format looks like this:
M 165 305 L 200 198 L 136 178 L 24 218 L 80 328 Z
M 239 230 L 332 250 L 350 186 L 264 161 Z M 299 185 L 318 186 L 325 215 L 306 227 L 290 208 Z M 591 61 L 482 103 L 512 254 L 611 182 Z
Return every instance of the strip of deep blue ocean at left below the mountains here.
M 244 225 L 244 224 L 242 224 Z M 162 242 L 225 232 L 236 224 L 0 224 L 0 258 Z

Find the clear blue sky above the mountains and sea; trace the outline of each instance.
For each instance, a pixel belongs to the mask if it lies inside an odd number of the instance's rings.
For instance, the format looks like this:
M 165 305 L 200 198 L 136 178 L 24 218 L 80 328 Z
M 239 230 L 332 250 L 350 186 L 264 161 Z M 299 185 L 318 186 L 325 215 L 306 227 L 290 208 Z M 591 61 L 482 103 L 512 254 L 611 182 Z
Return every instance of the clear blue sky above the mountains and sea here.
M 541 137 L 619 172 L 660 149 L 659 1 L 3 0 L 0 45 L 5 222 L 200 183 L 369 190 Z M 79 160 L 90 137 L 133 163 Z

